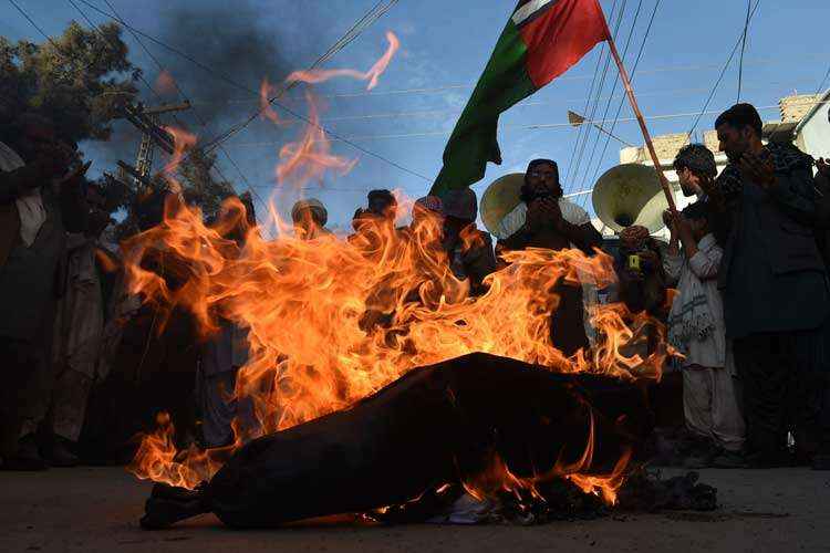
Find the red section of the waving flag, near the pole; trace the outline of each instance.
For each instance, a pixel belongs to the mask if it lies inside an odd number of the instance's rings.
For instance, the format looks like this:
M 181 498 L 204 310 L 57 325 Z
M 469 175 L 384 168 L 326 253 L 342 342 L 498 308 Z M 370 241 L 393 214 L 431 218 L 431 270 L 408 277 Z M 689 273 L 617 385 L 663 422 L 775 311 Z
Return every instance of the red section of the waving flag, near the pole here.
M 530 80 L 540 88 L 610 36 L 596 0 L 559 0 L 519 29 L 528 49 Z

